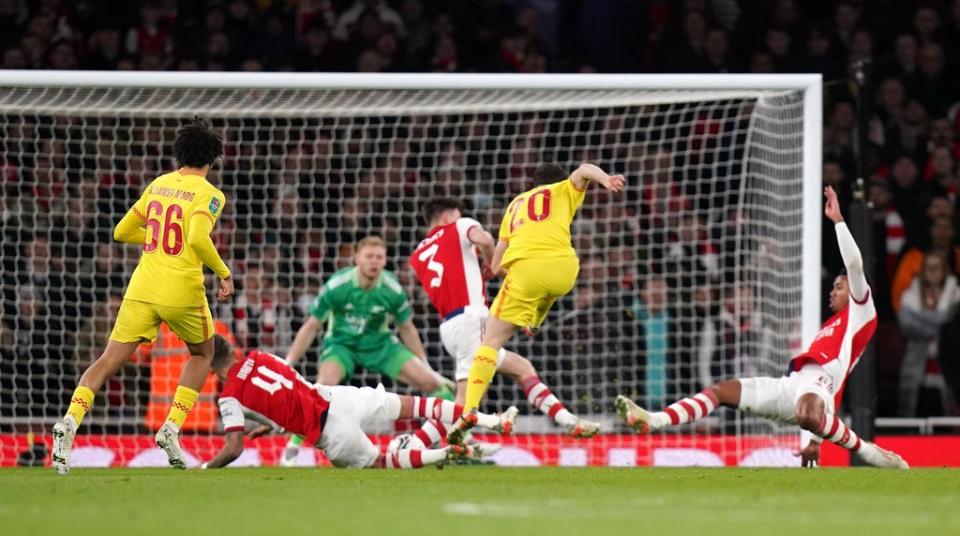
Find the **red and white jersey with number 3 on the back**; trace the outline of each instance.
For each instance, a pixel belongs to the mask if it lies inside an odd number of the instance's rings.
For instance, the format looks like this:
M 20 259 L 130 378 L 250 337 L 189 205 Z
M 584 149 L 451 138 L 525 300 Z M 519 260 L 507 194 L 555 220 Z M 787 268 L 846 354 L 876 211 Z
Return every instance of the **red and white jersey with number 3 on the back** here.
M 410 255 L 410 266 L 441 317 L 468 305 L 486 307 L 480 260 L 467 233 L 480 222 L 460 218 L 434 227 Z

